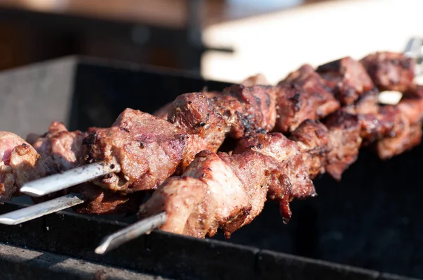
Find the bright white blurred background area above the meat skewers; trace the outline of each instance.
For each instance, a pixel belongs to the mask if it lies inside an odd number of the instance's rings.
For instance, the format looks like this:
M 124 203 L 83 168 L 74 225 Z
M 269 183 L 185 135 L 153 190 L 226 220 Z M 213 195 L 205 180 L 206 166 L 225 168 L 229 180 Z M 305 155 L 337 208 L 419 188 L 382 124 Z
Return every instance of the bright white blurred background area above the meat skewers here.
M 205 53 L 202 75 L 239 82 L 261 72 L 275 84 L 304 63 L 402 52 L 410 37 L 423 37 L 422 11 L 423 1 L 415 0 L 328 1 L 212 25 L 204 43 L 235 53 Z

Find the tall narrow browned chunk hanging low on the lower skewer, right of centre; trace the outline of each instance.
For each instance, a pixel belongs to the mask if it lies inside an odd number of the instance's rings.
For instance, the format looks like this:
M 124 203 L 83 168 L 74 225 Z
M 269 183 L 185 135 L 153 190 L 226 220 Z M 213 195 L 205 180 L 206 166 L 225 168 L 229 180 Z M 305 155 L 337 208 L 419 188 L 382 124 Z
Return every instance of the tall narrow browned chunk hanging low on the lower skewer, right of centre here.
M 328 154 L 326 172 L 341 181 L 342 174 L 357 160 L 362 138 L 357 115 L 342 110 L 330 115 L 324 122 L 329 129 L 331 151 Z

